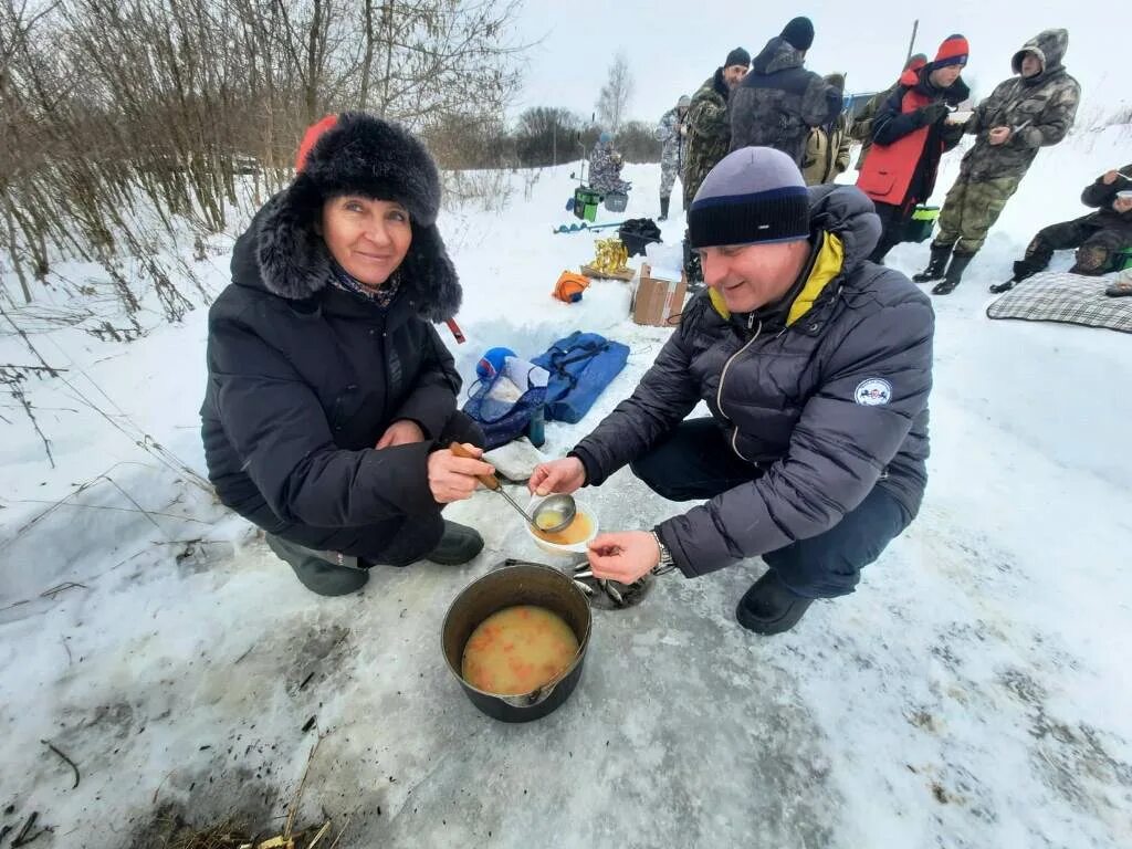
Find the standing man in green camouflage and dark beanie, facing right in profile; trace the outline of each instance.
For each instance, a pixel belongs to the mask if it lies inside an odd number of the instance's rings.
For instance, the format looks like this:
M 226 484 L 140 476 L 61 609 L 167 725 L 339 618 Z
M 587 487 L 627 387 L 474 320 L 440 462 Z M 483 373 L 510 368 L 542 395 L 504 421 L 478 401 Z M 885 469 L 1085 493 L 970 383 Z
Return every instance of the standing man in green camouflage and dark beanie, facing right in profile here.
M 736 48 L 727 54 L 724 63 L 704 80 L 692 95 L 692 104 L 685 123 L 688 128 L 688 146 L 684 162 L 684 208 L 692 200 L 707 172 L 727 156 L 731 144 L 731 123 L 728 119 L 728 98 L 731 91 L 746 76 L 751 66 L 751 54 Z

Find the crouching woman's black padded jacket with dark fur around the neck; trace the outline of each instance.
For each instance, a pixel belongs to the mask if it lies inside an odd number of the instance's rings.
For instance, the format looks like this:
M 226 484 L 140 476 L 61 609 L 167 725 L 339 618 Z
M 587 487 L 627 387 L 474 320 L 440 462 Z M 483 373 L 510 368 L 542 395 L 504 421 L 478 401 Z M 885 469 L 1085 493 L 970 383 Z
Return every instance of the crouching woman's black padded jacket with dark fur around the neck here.
M 318 528 L 438 509 L 431 443 L 374 448 L 396 419 L 436 437 L 456 409 L 452 355 L 422 317 L 452 316 L 460 302 L 436 228 L 414 225 L 401 289 L 383 310 L 327 285 L 327 258 L 289 232 L 278 204 L 237 241 L 232 283 L 208 314 L 200 415 L 220 499 L 246 516 L 266 501 L 281 522 Z

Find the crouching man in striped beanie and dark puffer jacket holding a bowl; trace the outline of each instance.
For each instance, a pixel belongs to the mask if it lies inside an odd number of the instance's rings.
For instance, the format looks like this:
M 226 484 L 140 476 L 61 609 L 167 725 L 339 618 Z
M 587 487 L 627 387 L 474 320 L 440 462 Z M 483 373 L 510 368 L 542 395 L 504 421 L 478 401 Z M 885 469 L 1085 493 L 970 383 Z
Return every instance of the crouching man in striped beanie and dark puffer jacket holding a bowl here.
M 761 634 L 815 598 L 852 592 L 919 509 L 935 318 L 927 295 L 867 261 L 881 234 L 848 186 L 807 190 L 784 154 L 748 147 L 707 175 L 688 212 L 705 291 L 633 395 L 532 490 L 633 472 L 705 504 L 653 531 L 604 533 L 598 577 L 695 577 L 762 556 L 736 616 Z M 701 401 L 710 418 L 685 417 Z

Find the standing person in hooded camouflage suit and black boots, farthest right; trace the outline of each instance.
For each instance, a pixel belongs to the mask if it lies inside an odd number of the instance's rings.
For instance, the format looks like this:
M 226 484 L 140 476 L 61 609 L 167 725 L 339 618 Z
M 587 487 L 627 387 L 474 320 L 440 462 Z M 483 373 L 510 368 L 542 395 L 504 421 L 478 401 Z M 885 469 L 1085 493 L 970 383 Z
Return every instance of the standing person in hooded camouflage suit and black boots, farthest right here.
M 979 103 L 963 128 L 976 137 L 975 145 L 940 212 L 928 266 L 912 278 L 942 280 L 934 294 L 959 285 L 1038 149 L 1056 145 L 1073 126 L 1081 87 L 1062 65 L 1067 46 L 1064 29 L 1046 29 L 1028 41 L 1011 61 L 1015 76 Z

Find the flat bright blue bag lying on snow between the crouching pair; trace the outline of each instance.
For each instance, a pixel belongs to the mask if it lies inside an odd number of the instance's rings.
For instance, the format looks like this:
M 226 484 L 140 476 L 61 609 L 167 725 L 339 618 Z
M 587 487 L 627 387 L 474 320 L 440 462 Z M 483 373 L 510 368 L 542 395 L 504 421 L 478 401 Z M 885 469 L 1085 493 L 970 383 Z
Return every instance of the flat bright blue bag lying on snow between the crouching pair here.
M 629 349 L 597 333 L 575 331 L 552 344 L 532 363 L 550 372 L 547 421 L 575 423 L 590 412 L 629 357 Z

